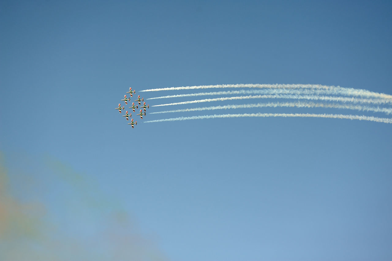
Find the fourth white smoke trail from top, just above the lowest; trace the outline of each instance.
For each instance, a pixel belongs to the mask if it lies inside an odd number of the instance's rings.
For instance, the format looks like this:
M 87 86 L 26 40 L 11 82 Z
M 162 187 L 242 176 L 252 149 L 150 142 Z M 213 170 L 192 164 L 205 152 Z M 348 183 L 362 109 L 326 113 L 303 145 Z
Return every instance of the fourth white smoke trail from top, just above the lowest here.
M 262 108 L 262 107 L 298 107 L 298 108 L 334 108 L 334 109 L 349 109 L 358 111 L 372 111 L 372 112 L 384 112 L 385 114 L 391 114 L 392 108 L 380 108 L 380 107 L 368 107 L 361 105 L 346 105 L 346 104 L 324 104 L 324 103 L 314 103 L 314 102 L 270 102 L 270 103 L 255 103 L 255 104 L 241 104 L 241 105 L 222 105 L 222 106 L 211 106 L 211 107 L 199 107 L 191 109 L 181 109 L 172 111 L 159 111 L 151 112 L 150 114 L 158 113 L 169 113 L 169 112 L 189 112 L 189 111 L 211 111 L 220 109 L 246 109 L 246 108 Z

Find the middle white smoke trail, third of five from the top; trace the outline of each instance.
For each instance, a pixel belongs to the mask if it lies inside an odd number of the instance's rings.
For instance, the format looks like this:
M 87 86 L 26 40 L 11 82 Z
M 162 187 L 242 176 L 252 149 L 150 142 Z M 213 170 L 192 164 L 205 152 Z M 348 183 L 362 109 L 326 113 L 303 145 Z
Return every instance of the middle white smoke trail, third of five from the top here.
M 389 103 L 387 100 L 375 100 L 375 99 L 364 99 L 364 98 L 352 98 L 352 97 L 334 97 L 334 96 L 314 96 L 314 95 L 249 95 L 249 96 L 235 96 L 235 97 L 221 97 L 213 99 L 203 99 L 194 101 L 180 101 L 174 103 L 166 103 L 153 105 L 153 107 L 158 106 L 168 106 L 168 105 L 180 105 L 180 104 L 190 104 L 190 103 L 201 103 L 201 102 L 211 102 L 211 101 L 227 101 L 227 100 L 244 100 L 244 99 L 304 99 L 304 100 L 322 100 L 322 101 L 341 101 L 341 102 L 352 102 L 352 103 Z

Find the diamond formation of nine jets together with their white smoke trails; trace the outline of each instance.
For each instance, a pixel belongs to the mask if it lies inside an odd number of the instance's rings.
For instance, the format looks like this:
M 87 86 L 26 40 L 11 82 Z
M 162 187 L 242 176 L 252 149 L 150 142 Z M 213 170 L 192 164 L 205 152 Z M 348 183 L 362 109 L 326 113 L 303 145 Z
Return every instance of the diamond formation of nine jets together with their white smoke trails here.
M 147 100 L 168 100 L 172 99 L 175 102 L 167 102 L 157 105 L 152 105 L 152 107 L 176 107 L 181 106 L 181 109 L 171 109 L 166 111 L 156 111 L 151 112 L 151 114 L 156 114 L 156 116 L 165 114 L 180 114 L 178 117 L 174 118 L 160 118 L 156 120 L 144 121 L 145 123 L 151 122 L 162 122 L 162 121 L 182 121 L 182 120 L 198 120 L 198 119 L 213 119 L 213 118 L 237 118 L 237 117 L 300 117 L 300 118 L 338 118 L 338 119 L 349 119 L 349 120 L 365 120 L 365 121 L 376 121 L 382 123 L 392 123 L 392 118 L 386 117 L 385 115 L 392 114 L 392 95 L 372 92 L 365 89 L 354 89 L 345 88 L 340 86 L 328 86 L 328 85 L 316 85 L 316 84 L 225 84 L 225 85 L 199 85 L 199 86 L 183 86 L 183 87 L 168 87 L 160 89 L 147 89 L 141 92 L 158 92 L 158 91 L 171 91 L 171 92 L 181 92 L 189 90 L 200 90 L 202 92 L 197 93 L 179 93 L 165 96 L 158 96 L 154 98 L 148 98 Z M 206 92 L 204 89 L 212 89 L 214 91 Z M 226 89 L 226 90 L 224 90 Z M 231 90 L 230 90 L 231 89 Z M 129 93 L 132 96 L 132 88 L 129 88 Z M 187 99 L 187 97 L 198 97 L 207 96 L 203 99 Z M 215 98 L 218 96 L 217 98 Z M 178 101 L 178 99 L 187 99 L 186 101 Z M 122 101 L 130 101 L 126 95 Z M 247 100 L 258 100 L 257 103 L 246 103 Z M 138 96 L 135 100 L 144 102 L 143 98 Z M 235 101 L 237 104 L 223 104 L 207 107 L 189 107 L 196 103 L 211 103 L 211 102 L 226 102 Z M 261 102 L 263 101 L 263 102 Z M 245 102 L 245 103 L 244 103 Z M 238 104 L 239 103 L 239 104 Z M 146 115 L 145 105 L 140 108 L 144 109 L 144 113 L 140 110 L 140 118 Z M 185 108 L 184 108 L 185 107 Z M 309 112 L 303 113 L 293 113 L 293 112 L 279 112 L 273 113 L 272 111 L 267 112 L 254 112 L 250 113 L 252 108 L 303 108 L 299 110 L 307 110 Z M 135 111 L 134 103 L 132 103 L 131 108 Z M 118 108 L 120 111 L 124 109 L 121 107 L 120 103 Z M 136 105 L 136 109 L 138 106 Z M 209 115 L 193 115 L 187 116 L 184 114 L 189 114 L 192 112 L 201 111 L 219 111 L 219 110 L 236 110 L 237 113 L 230 114 L 209 114 Z M 331 110 L 339 110 L 339 113 Z M 271 110 L 271 109 L 269 109 Z M 310 110 L 328 110 L 328 113 L 315 113 Z M 351 114 L 346 111 L 361 111 L 365 113 L 363 115 Z M 240 113 L 238 113 L 240 111 Z M 383 116 L 380 117 L 380 114 Z M 124 115 L 128 120 L 131 114 L 128 112 Z M 134 127 L 137 122 L 128 123 Z

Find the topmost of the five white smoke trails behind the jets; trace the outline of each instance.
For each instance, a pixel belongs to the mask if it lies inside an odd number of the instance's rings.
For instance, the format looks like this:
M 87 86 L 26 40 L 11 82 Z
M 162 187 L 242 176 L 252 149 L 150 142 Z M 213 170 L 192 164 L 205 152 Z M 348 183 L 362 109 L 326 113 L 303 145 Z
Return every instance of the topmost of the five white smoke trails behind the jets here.
M 147 89 L 141 92 L 153 91 L 174 91 L 174 90 L 192 90 L 192 89 L 211 89 L 211 88 L 262 88 L 262 89 L 318 89 L 330 90 L 336 94 L 348 96 L 364 96 L 392 100 L 392 95 L 385 93 L 372 92 L 364 89 L 345 88 L 340 86 L 327 86 L 320 84 L 220 84 L 220 85 L 200 85 L 200 86 L 183 86 L 167 87 L 160 89 Z

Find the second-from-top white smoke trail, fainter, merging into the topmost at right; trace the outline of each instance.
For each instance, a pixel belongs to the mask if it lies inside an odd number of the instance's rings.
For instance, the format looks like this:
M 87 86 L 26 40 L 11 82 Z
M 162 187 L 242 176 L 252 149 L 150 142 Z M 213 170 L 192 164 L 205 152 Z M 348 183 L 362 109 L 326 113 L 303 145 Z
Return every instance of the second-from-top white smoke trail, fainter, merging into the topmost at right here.
M 240 90 L 240 91 L 221 91 L 221 92 L 199 92 L 190 94 L 177 94 L 167 95 L 154 98 L 148 98 L 147 100 L 165 99 L 165 98 L 182 98 L 182 97 L 194 97 L 194 96 L 208 96 L 208 95 L 230 95 L 230 94 L 296 94 L 296 95 L 310 95 L 310 94 L 324 94 L 324 95 L 338 95 L 341 94 L 335 90 L 319 90 L 319 89 L 264 89 L 264 90 Z M 343 93 L 346 95 L 346 93 Z M 355 96 L 355 95 L 354 95 Z M 388 100 L 391 102 L 392 100 Z

